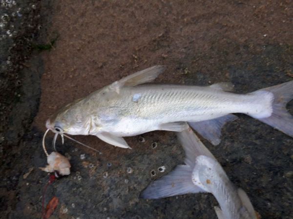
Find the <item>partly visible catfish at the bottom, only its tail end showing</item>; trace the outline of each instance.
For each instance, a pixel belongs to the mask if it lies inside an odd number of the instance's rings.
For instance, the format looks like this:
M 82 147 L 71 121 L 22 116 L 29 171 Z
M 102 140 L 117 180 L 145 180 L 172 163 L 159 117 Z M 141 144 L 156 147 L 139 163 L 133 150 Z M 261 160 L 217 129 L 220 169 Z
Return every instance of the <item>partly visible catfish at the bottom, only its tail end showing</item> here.
M 187 193 L 209 192 L 218 201 L 219 219 L 257 219 L 247 194 L 236 188 L 222 166 L 191 128 L 177 133 L 184 148 L 185 165 L 151 183 L 141 194 L 144 199 L 160 199 Z

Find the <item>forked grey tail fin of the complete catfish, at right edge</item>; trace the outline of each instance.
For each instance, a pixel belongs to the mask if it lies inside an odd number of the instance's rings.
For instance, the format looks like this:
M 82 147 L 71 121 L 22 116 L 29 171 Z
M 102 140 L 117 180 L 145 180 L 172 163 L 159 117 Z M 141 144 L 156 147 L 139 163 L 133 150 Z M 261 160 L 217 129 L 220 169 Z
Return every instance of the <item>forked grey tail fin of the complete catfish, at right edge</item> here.
M 259 91 L 268 91 L 273 94 L 272 113 L 269 117 L 258 120 L 293 137 L 293 115 L 286 110 L 287 103 L 293 99 L 293 81 L 264 88 Z

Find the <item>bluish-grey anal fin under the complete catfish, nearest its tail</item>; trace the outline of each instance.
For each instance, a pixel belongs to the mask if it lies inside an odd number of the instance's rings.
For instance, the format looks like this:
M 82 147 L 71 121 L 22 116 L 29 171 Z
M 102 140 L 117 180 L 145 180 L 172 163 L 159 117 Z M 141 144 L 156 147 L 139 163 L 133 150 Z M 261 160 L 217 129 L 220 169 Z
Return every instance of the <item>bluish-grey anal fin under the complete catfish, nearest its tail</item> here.
M 201 122 L 188 122 L 188 124 L 211 144 L 219 145 L 221 142 L 221 129 L 227 122 L 235 119 L 237 119 L 237 116 L 228 114 Z

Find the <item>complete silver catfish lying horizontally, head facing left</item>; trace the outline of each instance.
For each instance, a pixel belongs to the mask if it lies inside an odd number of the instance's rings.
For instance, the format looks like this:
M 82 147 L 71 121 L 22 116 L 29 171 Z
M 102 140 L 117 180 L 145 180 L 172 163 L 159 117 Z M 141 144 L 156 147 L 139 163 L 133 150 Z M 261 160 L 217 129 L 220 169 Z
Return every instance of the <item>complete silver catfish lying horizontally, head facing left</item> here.
M 124 136 L 182 131 L 188 122 L 217 145 L 222 126 L 237 118 L 230 113 L 245 113 L 293 136 L 293 116 L 286 110 L 293 98 L 293 81 L 248 94 L 228 92 L 233 87 L 230 83 L 207 87 L 145 84 L 164 69 L 153 66 L 78 99 L 51 116 L 46 127 L 62 136 L 95 135 L 110 145 L 129 148 Z

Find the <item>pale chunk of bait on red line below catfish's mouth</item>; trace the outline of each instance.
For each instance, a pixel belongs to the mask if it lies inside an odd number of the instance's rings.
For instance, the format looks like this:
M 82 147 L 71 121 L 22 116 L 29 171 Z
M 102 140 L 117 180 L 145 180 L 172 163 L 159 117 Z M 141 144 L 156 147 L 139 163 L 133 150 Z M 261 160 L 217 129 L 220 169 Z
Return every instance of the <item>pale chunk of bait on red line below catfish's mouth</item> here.
M 47 156 L 47 165 L 46 167 L 40 167 L 45 172 L 52 173 L 57 171 L 60 175 L 69 175 L 70 174 L 70 163 L 69 160 L 58 152 L 52 152 Z

